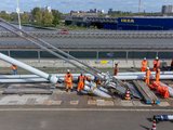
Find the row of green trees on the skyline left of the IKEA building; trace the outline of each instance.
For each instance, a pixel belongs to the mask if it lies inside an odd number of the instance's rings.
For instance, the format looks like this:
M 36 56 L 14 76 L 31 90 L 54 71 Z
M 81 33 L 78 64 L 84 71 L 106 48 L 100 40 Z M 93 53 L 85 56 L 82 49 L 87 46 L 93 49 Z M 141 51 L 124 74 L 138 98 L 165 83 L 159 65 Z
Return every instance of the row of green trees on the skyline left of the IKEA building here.
M 16 12 L 6 13 L 0 12 L 0 17 L 9 22 L 17 22 L 18 16 Z M 62 13 L 57 10 L 51 10 L 43 8 L 34 8 L 31 12 L 21 13 L 22 24 L 35 24 L 38 26 L 57 26 L 61 22 Z

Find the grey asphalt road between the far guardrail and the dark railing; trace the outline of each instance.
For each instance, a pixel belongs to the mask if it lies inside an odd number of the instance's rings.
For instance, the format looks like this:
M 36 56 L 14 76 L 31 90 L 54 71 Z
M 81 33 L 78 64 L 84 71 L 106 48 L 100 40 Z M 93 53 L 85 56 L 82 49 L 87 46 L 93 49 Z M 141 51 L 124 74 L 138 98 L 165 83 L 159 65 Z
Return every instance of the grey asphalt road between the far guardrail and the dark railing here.
M 42 38 L 59 49 L 72 50 L 170 50 L 172 39 L 114 39 L 114 38 Z M 19 38 L 1 38 L 1 49 L 38 49 L 35 44 Z

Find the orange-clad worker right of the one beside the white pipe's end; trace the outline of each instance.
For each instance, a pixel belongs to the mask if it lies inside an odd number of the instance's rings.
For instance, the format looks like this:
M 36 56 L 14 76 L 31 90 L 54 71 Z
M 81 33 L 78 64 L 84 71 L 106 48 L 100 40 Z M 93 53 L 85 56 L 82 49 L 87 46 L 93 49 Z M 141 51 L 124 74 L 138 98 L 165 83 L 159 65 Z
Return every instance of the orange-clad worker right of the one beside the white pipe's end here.
M 81 90 L 84 89 L 84 80 L 86 79 L 85 76 L 83 76 L 83 74 L 81 73 L 81 75 L 78 77 L 78 88 L 77 91 L 81 92 Z

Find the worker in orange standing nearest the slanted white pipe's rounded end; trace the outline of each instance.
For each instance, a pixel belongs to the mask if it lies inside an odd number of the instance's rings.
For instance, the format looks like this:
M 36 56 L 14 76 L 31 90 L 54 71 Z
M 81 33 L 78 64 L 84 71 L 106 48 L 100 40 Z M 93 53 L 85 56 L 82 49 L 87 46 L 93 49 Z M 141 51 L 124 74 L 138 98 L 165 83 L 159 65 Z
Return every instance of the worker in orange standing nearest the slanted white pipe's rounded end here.
M 67 69 L 67 74 L 65 75 L 65 86 L 66 86 L 66 91 L 70 89 L 72 91 L 72 75 L 69 69 Z

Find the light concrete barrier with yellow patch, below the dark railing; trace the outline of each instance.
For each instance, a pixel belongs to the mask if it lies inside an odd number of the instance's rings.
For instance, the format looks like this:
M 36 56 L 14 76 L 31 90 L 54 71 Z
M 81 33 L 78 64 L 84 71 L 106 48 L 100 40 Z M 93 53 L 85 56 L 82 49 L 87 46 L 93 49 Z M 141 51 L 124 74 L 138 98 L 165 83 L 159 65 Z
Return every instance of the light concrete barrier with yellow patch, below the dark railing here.
M 62 60 L 55 60 L 55 58 L 41 58 L 41 60 L 24 60 L 24 58 L 17 58 L 28 65 L 31 65 L 34 67 L 74 67 L 72 65 L 68 64 L 67 62 L 64 62 Z M 139 68 L 142 60 L 81 60 L 85 64 L 97 67 L 97 68 L 112 68 L 115 63 L 119 63 L 119 68 Z M 149 67 L 152 68 L 152 60 L 149 60 Z M 163 60 L 161 63 L 164 63 L 167 65 L 171 64 L 171 61 Z M 0 67 L 10 67 L 11 64 L 5 63 L 0 60 Z

